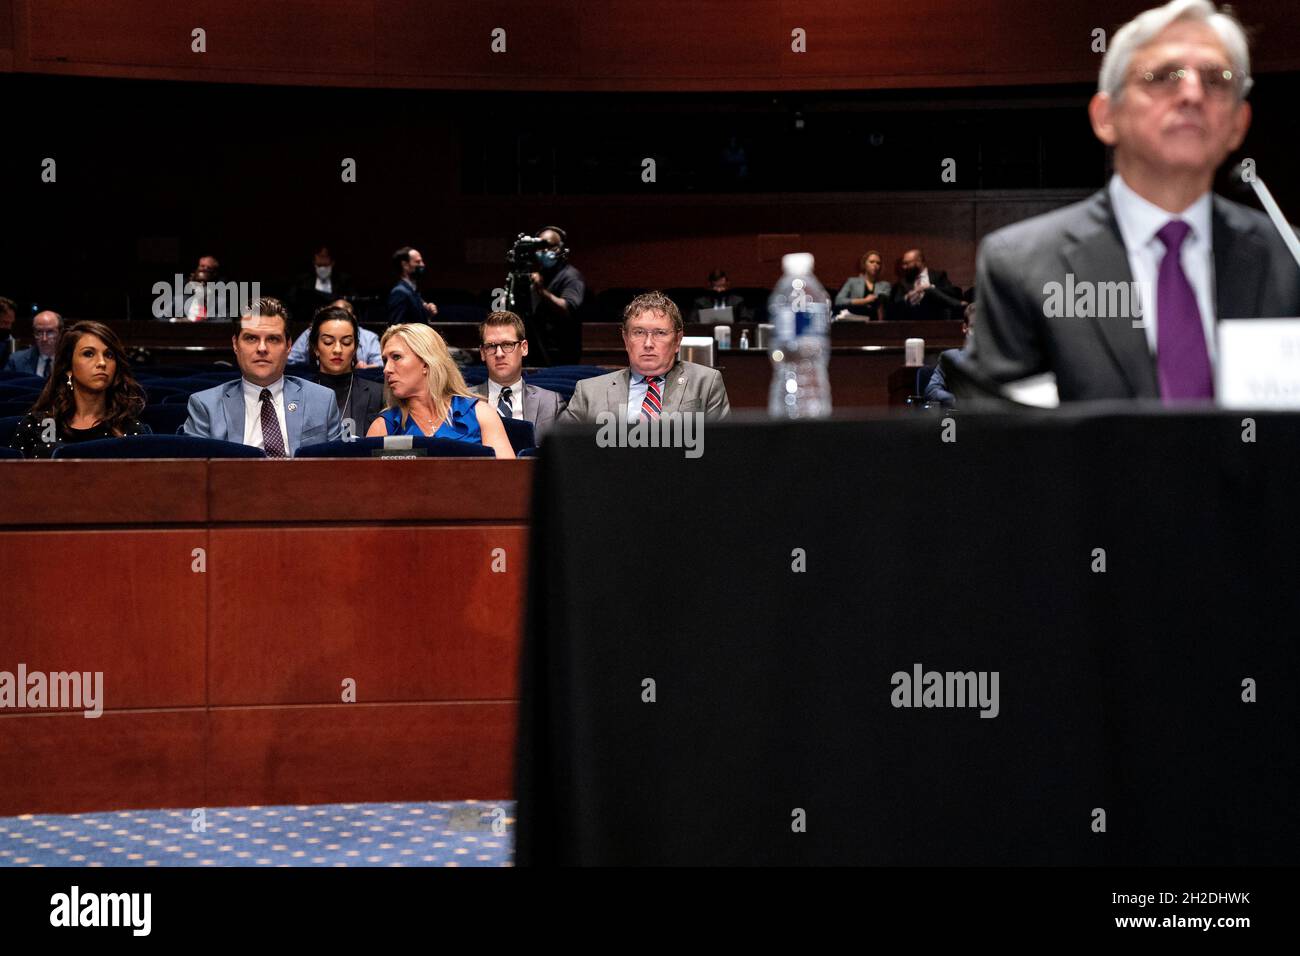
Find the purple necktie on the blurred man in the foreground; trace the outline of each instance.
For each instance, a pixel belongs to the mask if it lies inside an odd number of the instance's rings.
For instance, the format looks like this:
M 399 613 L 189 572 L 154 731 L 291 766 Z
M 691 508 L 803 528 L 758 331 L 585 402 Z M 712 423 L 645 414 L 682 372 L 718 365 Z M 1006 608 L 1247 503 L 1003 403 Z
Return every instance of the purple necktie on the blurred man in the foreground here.
M 1170 220 L 1156 233 L 1165 243 L 1156 281 L 1156 367 L 1160 394 L 1169 402 L 1214 397 L 1210 356 L 1205 350 L 1205 326 L 1196 293 L 1183 272 L 1183 241 L 1191 226 Z

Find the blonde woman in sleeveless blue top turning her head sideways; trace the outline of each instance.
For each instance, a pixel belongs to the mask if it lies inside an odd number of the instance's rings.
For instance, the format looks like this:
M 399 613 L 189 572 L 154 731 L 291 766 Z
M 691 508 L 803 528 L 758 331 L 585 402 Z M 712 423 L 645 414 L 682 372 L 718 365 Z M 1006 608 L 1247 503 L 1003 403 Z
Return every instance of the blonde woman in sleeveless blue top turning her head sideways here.
M 465 388 L 442 336 L 424 324 L 384 333 L 384 397 L 389 407 L 367 436 L 415 434 L 485 445 L 514 458 L 500 416 Z

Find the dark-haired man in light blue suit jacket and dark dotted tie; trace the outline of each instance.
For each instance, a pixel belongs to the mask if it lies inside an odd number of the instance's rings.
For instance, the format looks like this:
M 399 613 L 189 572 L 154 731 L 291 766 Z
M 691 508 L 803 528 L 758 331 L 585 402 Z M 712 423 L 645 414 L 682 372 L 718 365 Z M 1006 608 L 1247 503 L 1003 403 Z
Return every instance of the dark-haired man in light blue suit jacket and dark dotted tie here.
M 182 431 L 289 458 L 302 445 L 337 441 L 343 431 L 334 393 L 285 375 L 289 312 L 280 299 L 257 299 L 230 339 L 243 377 L 190 395 Z

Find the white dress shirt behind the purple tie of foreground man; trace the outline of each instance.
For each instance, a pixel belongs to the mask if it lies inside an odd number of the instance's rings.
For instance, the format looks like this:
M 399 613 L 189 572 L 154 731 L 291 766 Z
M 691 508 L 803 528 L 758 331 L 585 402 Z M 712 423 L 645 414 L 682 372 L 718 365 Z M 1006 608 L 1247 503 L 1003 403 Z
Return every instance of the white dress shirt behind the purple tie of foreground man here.
M 1156 235 L 1169 224 L 1170 220 L 1183 220 L 1191 226 L 1187 238 L 1183 239 L 1182 265 L 1187 281 L 1196 294 L 1196 307 L 1201 313 L 1201 326 L 1205 329 L 1205 349 L 1210 358 L 1210 368 L 1216 362 L 1214 343 L 1214 247 L 1210 232 L 1212 198 L 1209 193 L 1201 195 L 1195 203 L 1179 213 L 1161 209 L 1154 203 L 1143 199 L 1134 193 L 1119 173 L 1110 177 L 1110 207 L 1115 212 L 1115 221 L 1119 224 L 1119 234 L 1124 241 L 1124 250 L 1128 252 L 1128 268 L 1132 271 L 1134 281 L 1138 282 L 1139 297 L 1143 304 L 1143 329 L 1147 333 L 1147 345 L 1150 354 L 1156 354 L 1156 336 L 1158 333 L 1156 310 L 1158 303 L 1156 287 L 1160 278 L 1160 264 L 1165 258 L 1165 243 Z

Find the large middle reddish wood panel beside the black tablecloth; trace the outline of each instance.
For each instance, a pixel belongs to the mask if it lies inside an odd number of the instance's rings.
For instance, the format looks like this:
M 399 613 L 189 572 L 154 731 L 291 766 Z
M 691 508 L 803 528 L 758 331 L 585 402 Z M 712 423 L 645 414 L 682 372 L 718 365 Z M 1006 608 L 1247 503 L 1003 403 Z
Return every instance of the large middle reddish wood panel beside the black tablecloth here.
M 525 549 L 521 525 L 216 529 L 209 700 L 514 698 Z

